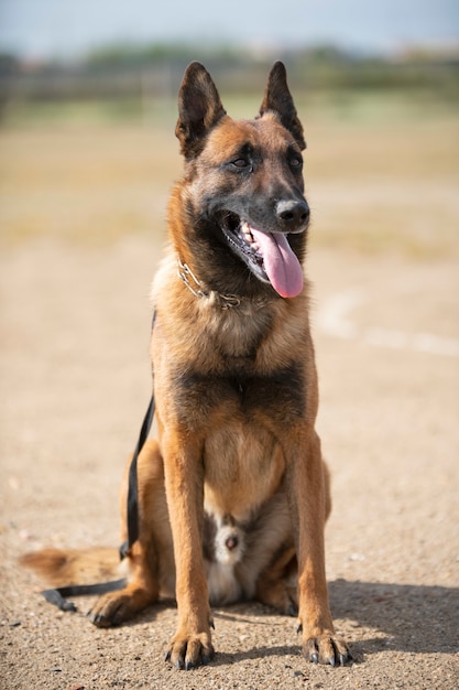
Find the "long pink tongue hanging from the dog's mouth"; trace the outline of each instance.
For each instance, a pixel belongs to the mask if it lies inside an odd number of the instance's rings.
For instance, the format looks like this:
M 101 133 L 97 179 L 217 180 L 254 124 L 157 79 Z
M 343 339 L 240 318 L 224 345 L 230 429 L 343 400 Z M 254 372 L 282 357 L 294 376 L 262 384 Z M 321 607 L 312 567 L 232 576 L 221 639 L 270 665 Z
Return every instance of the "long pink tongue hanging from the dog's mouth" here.
M 264 270 L 274 290 L 283 298 L 294 298 L 303 290 L 303 269 L 282 233 L 262 233 L 250 227 L 263 255 Z

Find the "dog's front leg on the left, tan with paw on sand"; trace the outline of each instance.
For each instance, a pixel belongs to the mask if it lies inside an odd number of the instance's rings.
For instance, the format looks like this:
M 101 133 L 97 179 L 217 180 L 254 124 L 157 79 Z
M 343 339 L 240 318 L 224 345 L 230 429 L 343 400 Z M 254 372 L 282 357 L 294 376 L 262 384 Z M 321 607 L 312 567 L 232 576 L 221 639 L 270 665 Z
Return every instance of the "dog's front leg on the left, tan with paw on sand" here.
M 211 615 L 203 563 L 204 470 L 189 439 L 163 444 L 167 506 L 174 540 L 178 626 L 166 660 L 186 670 L 214 656 Z

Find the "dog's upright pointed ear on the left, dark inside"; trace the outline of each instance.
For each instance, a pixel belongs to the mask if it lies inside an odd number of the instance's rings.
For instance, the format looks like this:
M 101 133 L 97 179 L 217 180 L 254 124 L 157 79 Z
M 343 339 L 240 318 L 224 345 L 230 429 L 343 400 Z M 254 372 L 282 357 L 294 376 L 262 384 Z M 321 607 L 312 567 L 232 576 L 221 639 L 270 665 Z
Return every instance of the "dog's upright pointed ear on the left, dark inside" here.
M 208 131 L 226 115 L 210 74 L 198 62 L 186 68 L 178 91 L 175 134 L 186 159 L 198 155 Z

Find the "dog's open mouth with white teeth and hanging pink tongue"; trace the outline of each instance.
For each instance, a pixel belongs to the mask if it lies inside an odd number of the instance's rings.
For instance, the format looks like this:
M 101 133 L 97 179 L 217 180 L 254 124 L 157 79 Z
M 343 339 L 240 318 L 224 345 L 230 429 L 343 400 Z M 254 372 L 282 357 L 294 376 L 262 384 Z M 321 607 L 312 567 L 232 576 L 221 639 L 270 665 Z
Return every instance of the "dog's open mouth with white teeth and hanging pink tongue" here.
M 237 214 L 226 212 L 221 229 L 231 249 L 252 273 L 269 282 L 283 298 L 294 298 L 303 290 L 303 269 L 285 233 L 265 233 Z

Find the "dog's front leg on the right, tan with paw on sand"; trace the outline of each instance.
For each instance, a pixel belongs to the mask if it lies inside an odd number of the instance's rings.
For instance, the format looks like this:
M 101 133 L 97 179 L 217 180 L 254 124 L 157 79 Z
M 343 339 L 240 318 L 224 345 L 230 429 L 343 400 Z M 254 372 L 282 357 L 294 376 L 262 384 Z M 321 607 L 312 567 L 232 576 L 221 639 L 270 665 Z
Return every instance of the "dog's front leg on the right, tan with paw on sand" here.
M 327 499 L 320 440 L 312 429 L 300 435 L 303 442 L 295 444 L 288 463 L 288 496 L 293 524 L 298 526 L 298 618 L 303 654 L 315 664 L 343 665 L 351 655 L 346 643 L 335 634 L 325 572 Z M 298 449 L 303 453 L 298 453 Z

